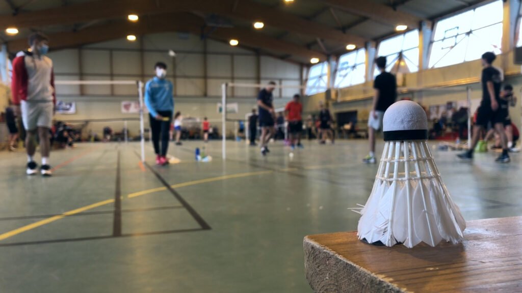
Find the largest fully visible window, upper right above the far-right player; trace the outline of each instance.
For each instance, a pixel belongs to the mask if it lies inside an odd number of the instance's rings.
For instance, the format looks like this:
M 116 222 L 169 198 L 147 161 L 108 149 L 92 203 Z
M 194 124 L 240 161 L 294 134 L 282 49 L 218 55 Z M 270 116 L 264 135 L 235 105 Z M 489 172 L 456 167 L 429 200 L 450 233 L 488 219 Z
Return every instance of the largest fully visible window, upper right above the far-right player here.
M 485 52 L 501 53 L 502 0 L 440 20 L 431 45 L 430 68 L 480 59 Z

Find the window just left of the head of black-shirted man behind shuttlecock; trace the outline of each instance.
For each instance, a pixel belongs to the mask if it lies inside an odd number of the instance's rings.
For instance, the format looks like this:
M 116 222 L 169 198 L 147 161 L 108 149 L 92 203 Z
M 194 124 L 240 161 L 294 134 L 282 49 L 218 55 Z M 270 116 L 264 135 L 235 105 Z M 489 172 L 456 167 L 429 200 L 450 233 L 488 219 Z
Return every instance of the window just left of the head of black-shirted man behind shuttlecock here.
M 346 88 L 366 81 L 366 50 L 364 48 L 339 58 L 335 87 Z

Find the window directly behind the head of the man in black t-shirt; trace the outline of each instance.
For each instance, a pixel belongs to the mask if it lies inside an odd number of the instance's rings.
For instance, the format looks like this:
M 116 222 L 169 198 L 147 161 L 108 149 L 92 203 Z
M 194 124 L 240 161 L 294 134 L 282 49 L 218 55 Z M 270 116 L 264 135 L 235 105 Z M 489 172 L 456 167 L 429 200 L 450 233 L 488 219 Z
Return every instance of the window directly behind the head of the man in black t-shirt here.
M 386 71 L 392 71 L 399 59 L 399 66 L 405 66 L 408 72 L 419 71 L 419 30 L 382 41 L 379 43 L 377 56 L 386 57 Z M 375 78 L 378 74 L 379 70 L 375 66 L 373 77 Z

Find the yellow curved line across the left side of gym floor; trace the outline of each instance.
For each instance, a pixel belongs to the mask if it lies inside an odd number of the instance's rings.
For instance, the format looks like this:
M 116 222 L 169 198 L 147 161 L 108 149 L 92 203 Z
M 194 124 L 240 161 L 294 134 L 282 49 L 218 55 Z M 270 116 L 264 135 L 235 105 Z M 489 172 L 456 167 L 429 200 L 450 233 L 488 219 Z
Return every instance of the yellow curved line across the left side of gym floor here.
M 203 184 L 203 183 L 207 183 L 207 182 L 214 182 L 214 181 L 234 179 L 234 178 L 242 178 L 242 177 L 255 176 L 255 175 L 263 175 L 263 174 L 269 174 L 269 173 L 273 173 L 273 171 L 250 172 L 250 173 L 240 173 L 240 174 L 212 177 L 212 178 L 207 178 L 207 179 L 188 181 L 188 182 L 184 182 L 184 183 L 180 183 L 180 184 L 174 184 L 174 185 L 171 185 L 171 187 L 172 188 L 180 188 L 180 187 L 185 187 L 185 186 L 192 186 L 192 185 L 197 185 L 197 184 Z M 139 197 L 139 196 L 144 196 L 145 194 L 150 194 L 150 193 L 157 192 L 157 191 L 162 191 L 162 190 L 167 190 L 167 188 L 166 187 L 159 187 L 159 188 L 152 188 L 152 189 L 148 189 L 148 190 L 134 192 L 134 193 L 128 194 L 128 198 L 135 198 L 135 197 Z M 18 234 L 21 234 L 21 233 L 23 233 L 25 231 L 29 231 L 29 230 L 32 230 L 34 228 L 38 228 L 40 226 L 43 226 L 43 225 L 46 225 L 46 224 L 58 221 L 59 219 L 62 219 L 64 217 L 66 217 L 66 216 L 71 216 L 71 215 L 74 215 L 74 214 L 85 212 L 87 210 L 94 209 L 95 207 L 102 206 L 102 205 L 109 204 L 109 203 L 113 203 L 113 202 L 114 202 L 114 199 L 108 199 L 108 200 L 100 201 L 100 202 L 97 202 L 97 203 L 93 203 L 93 204 L 90 204 L 90 205 L 79 207 L 78 209 L 71 210 L 71 211 L 65 212 L 65 213 L 60 214 L 60 215 L 52 216 L 52 217 L 43 219 L 41 221 L 34 222 L 32 224 L 20 227 L 18 229 L 11 230 L 11 231 L 6 232 L 4 234 L 0 234 L 0 241 L 4 240 L 4 239 L 7 239 L 9 237 L 13 237 L 13 236 L 18 235 Z

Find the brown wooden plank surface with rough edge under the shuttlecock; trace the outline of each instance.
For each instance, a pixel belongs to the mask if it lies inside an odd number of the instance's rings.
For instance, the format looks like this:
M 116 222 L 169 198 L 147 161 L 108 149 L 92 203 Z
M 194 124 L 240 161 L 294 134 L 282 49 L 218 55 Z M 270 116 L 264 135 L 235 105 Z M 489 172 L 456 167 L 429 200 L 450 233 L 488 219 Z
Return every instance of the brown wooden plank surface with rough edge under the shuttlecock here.
M 315 292 L 522 292 L 522 217 L 467 222 L 466 240 L 408 249 L 367 245 L 357 232 L 306 236 Z

